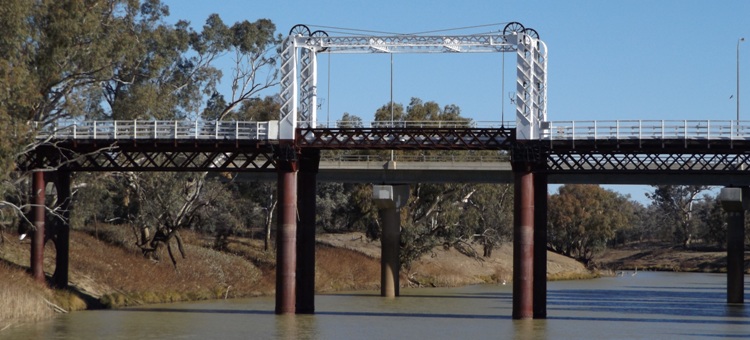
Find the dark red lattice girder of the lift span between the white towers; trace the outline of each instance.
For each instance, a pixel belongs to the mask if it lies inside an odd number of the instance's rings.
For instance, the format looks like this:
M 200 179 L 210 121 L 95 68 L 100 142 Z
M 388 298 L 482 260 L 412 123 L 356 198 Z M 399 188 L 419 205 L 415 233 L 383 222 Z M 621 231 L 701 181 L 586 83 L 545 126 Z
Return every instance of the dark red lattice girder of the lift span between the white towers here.
M 302 128 L 297 145 L 315 149 L 508 150 L 515 129 Z

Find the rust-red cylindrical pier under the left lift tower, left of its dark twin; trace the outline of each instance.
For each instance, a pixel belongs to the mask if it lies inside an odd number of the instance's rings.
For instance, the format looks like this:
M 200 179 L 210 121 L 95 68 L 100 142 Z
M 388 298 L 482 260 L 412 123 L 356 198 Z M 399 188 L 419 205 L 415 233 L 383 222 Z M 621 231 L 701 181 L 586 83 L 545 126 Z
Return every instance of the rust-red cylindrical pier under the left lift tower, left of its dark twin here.
M 291 149 L 291 147 L 289 148 Z M 297 161 L 277 161 L 276 314 L 294 314 L 297 271 Z

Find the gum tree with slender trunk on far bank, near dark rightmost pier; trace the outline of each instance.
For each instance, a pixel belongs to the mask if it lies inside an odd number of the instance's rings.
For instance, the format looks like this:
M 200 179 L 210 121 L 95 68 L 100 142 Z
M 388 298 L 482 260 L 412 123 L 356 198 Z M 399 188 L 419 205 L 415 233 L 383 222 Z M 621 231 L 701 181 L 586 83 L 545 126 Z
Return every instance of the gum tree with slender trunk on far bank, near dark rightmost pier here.
M 693 218 L 693 205 L 698 195 L 709 187 L 705 185 L 657 185 L 654 192 L 646 194 L 657 209 L 662 236 L 670 241 L 690 247 L 696 237 L 698 220 Z

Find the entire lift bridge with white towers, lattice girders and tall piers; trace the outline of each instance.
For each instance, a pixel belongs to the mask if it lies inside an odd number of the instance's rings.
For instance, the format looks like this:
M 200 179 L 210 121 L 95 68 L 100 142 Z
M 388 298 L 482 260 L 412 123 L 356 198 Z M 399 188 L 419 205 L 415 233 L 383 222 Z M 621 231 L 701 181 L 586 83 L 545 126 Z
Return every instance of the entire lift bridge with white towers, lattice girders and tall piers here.
M 465 167 L 472 167 L 472 171 L 485 171 L 488 177 L 497 175 L 487 181 L 514 183 L 514 318 L 546 317 L 546 199 L 550 182 L 727 186 L 722 190 L 724 206 L 730 212 L 727 301 L 744 301 L 743 221 L 748 201 L 743 197 L 746 192 L 738 186 L 750 184 L 750 176 L 746 176 L 750 171 L 750 124 L 713 120 L 550 121 L 546 110 L 546 45 L 536 31 L 518 23 L 506 26 L 502 34 L 480 36 L 329 37 L 305 28 L 295 26 L 283 43 L 283 105 L 278 121 L 71 120 L 35 125 L 37 147 L 18 161 L 19 169 L 31 171 L 33 179 L 34 277 L 44 280 L 47 181 L 57 186 L 66 217 L 70 173 L 75 171 L 270 175 L 278 181 L 280 191 L 276 312 L 313 313 L 318 180 L 409 183 L 417 180 L 416 167 L 421 169 L 421 177 L 441 171 L 444 175 L 466 173 Z M 335 128 L 320 127 L 315 112 L 316 56 L 324 51 L 515 53 L 516 120 L 512 124 L 381 121 L 367 126 L 342 123 Z M 490 150 L 498 157 L 491 162 L 470 158 L 457 162 L 361 162 L 321 159 L 321 150 Z M 462 180 L 460 176 L 447 176 Z M 397 296 L 398 209 L 408 197 L 408 187 L 382 185 L 373 191 L 384 220 L 381 294 Z M 67 284 L 68 230 L 68 225 L 57 225 L 47 231 L 57 251 L 53 281 L 62 286 Z

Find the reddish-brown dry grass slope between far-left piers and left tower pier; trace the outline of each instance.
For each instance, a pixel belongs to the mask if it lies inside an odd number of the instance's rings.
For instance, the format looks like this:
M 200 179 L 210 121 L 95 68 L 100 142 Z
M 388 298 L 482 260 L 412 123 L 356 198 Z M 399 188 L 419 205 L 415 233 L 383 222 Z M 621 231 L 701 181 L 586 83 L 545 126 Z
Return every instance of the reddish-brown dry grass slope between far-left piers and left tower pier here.
M 87 273 L 81 280 L 71 279 L 96 283 L 99 287 L 88 287 L 86 283 L 83 286 L 101 296 L 106 307 L 258 294 L 262 273 L 239 256 L 187 244 L 186 258 L 178 258 L 174 268 L 166 250 L 162 251 L 162 261 L 154 262 L 145 259 L 134 246 L 113 246 L 128 244 L 117 240 L 127 237 L 117 228 L 99 226 L 98 235 L 106 235 L 106 243 L 97 242 L 87 233 L 71 236 L 71 271 Z M 187 243 L 198 240 L 191 233 L 184 234 Z

